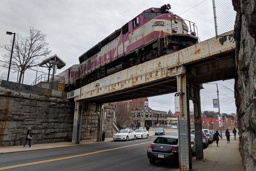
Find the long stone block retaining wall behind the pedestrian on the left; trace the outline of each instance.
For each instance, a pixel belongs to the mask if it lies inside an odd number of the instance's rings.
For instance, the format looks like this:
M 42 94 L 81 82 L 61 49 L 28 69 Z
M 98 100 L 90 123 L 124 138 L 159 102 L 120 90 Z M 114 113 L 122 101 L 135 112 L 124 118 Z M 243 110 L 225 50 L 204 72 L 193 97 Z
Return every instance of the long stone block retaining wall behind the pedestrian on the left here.
M 28 127 L 32 144 L 67 141 L 73 117 L 74 104 L 65 98 L 0 90 L 0 146 L 22 145 Z

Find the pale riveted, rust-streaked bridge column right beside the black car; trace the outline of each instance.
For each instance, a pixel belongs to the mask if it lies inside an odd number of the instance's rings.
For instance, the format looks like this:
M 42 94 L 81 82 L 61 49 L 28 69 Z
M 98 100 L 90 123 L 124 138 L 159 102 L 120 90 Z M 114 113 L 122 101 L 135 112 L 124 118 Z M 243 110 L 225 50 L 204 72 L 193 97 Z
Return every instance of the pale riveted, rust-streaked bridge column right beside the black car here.
M 189 96 L 187 77 L 177 76 L 177 92 L 180 96 L 180 117 L 179 117 L 179 158 L 180 171 L 189 171 L 192 168 L 191 146 L 190 146 L 190 122 L 189 122 Z

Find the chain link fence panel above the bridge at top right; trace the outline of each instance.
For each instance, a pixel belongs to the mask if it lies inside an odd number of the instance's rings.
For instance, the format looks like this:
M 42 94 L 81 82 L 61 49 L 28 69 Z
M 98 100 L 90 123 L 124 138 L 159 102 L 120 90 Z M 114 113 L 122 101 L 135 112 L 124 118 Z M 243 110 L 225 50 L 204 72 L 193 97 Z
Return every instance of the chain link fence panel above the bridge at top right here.
M 232 0 L 213 0 L 213 13 L 216 36 L 234 29 L 236 11 Z

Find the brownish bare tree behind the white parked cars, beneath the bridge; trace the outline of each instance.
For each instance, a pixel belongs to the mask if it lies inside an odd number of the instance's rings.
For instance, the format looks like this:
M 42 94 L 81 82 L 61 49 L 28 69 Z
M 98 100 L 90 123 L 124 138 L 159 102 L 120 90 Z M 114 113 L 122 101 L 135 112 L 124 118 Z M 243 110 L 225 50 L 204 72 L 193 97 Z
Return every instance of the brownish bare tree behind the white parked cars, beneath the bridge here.
M 128 114 L 128 110 L 125 104 L 118 104 L 115 108 L 115 118 L 118 128 L 123 126 L 123 123 L 130 123 L 131 116 Z

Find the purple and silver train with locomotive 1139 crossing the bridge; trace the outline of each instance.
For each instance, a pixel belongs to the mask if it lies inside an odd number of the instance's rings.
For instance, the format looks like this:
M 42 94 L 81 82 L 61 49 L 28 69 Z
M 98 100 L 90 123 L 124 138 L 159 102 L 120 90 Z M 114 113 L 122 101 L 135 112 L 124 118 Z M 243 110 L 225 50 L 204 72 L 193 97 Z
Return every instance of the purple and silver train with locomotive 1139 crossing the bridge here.
M 182 19 L 170 9 L 170 4 L 165 4 L 160 8 L 144 10 L 79 56 L 77 74 L 66 75 L 66 79 L 72 80 L 74 84 L 70 87 L 79 88 L 198 43 L 195 23 Z M 75 68 L 77 65 L 73 65 L 69 70 Z M 70 84 L 68 81 L 67 83 Z

